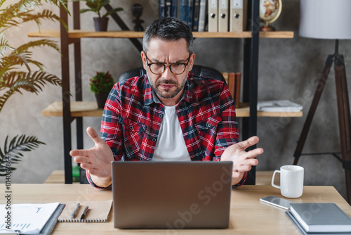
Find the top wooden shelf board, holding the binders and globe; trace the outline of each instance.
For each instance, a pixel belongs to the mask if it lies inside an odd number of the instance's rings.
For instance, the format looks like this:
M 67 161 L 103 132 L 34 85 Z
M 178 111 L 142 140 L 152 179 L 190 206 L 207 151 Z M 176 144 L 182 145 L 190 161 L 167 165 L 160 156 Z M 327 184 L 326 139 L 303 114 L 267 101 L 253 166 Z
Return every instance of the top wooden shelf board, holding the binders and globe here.
M 59 30 L 41 30 L 40 32 L 29 32 L 28 37 L 60 37 Z M 251 32 L 193 32 L 198 38 L 250 38 Z M 107 31 L 95 32 L 86 30 L 69 30 L 69 39 L 83 37 L 112 37 L 112 38 L 143 38 L 144 32 L 134 31 Z M 293 38 L 291 31 L 260 32 L 262 38 Z

